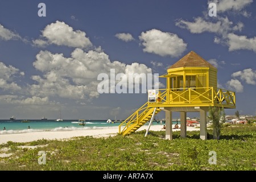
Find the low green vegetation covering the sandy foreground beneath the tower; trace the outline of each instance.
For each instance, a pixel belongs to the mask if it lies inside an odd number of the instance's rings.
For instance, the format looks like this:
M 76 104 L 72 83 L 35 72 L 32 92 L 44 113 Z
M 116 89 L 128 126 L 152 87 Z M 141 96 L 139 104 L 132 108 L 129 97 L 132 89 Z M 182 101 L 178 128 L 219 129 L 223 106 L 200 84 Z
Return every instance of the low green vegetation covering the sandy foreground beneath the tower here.
M 0 170 L 255 170 L 256 127 L 231 125 L 221 129 L 219 140 L 199 139 L 199 131 L 187 138 L 165 131 L 145 131 L 128 137 L 79 137 L 70 140 L 37 140 L 0 145 Z M 46 152 L 46 164 L 38 164 L 39 151 Z M 217 164 L 209 164 L 209 152 Z M 5 154 L 5 156 L 3 155 Z

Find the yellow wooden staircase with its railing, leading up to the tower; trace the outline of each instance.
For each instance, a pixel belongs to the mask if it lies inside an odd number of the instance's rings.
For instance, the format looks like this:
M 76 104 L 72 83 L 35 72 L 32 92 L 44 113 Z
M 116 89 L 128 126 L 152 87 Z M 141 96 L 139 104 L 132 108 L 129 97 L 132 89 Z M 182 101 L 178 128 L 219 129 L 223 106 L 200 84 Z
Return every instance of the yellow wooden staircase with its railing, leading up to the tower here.
M 141 108 L 139 108 L 137 111 L 135 111 L 129 118 L 127 118 L 124 122 L 119 125 L 119 134 L 122 135 L 129 135 L 134 133 L 136 130 L 138 130 L 141 126 L 143 126 L 145 123 L 150 121 L 155 107 L 148 107 L 148 102 L 144 104 Z M 156 107 L 155 114 L 158 114 L 161 110 L 159 107 Z M 122 131 L 121 127 L 125 126 Z

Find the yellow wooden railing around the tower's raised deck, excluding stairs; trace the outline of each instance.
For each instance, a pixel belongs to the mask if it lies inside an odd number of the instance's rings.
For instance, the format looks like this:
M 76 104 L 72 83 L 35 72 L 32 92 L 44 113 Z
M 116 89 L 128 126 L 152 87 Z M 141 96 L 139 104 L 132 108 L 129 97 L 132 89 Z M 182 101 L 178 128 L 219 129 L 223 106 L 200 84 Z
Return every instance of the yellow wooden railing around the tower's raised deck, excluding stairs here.
M 162 104 L 221 104 L 236 105 L 235 93 L 225 89 L 204 87 L 204 88 L 178 88 L 159 89 L 156 102 L 149 102 L 148 106 Z

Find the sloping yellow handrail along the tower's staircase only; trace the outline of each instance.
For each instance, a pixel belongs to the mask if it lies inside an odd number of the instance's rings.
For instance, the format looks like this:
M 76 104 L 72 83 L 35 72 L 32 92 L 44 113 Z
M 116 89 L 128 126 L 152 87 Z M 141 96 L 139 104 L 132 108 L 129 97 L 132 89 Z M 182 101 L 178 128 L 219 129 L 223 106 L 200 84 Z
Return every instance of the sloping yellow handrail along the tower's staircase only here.
M 151 107 L 148 107 L 147 104 L 148 104 L 148 102 L 146 102 L 143 106 L 141 106 L 141 108 L 139 108 L 137 111 L 135 111 L 133 114 L 131 114 L 129 118 L 125 119 L 125 121 L 123 121 L 121 123 L 121 125 L 119 125 L 119 133 L 120 134 L 123 131 L 125 131 L 134 122 L 139 123 L 139 118 L 142 115 L 146 114 L 147 111 L 151 109 Z M 123 127 L 122 131 L 121 131 L 121 126 L 125 126 L 125 127 Z

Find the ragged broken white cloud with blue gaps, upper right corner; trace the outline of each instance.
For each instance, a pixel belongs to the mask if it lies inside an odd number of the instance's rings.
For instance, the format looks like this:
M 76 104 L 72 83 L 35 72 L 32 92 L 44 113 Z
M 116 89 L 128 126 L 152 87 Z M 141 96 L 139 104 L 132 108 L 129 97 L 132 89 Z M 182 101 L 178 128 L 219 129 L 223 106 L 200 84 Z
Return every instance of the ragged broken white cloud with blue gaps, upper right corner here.
M 193 18 L 192 21 L 179 19 L 176 20 L 176 26 L 189 30 L 192 34 L 201 34 L 210 32 L 215 34 L 213 42 L 228 46 L 229 51 L 238 49 L 249 49 L 256 52 L 256 38 L 247 38 L 246 36 L 238 36 L 234 32 L 241 32 L 244 24 L 240 19 L 229 20 L 228 15 L 251 16 L 247 13 L 245 7 L 249 6 L 253 0 L 213 0 L 209 3 L 216 3 L 217 16 L 209 18 L 208 10 L 204 11 L 204 16 Z M 226 13 L 228 11 L 228 13 Z M 226 13 L 226 14 L 224 14 Z

